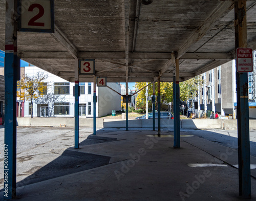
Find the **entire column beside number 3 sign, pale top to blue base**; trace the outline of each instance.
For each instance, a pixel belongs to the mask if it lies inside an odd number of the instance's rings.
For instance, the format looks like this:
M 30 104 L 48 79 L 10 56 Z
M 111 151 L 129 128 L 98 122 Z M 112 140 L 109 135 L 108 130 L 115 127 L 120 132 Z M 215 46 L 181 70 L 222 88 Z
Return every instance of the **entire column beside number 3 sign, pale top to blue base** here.
M 79 148 L 79 71 L 75 60 L 75 149 Z

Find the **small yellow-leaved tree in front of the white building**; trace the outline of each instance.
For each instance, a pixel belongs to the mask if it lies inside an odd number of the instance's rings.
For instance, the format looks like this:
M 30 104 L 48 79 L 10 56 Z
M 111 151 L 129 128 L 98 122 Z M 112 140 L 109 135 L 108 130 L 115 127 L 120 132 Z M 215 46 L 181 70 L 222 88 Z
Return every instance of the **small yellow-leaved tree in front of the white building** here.
M 24 90 L 24 97 L 27 101 L 31 101 L 31 118 L 33 118 L 33 100 L 43 96 L 47 89 L 44 82 L 48 78 L 47 74 L 37 72 L 34 76 L 23 75 L 17 82 L 17 87 Z

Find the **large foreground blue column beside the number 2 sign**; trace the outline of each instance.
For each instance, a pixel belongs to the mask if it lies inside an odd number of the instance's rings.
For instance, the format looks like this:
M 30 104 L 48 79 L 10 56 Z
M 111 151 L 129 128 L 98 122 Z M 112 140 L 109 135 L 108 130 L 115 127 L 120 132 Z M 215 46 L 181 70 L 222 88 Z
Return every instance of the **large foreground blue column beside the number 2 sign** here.
M 6 1 L 4 199 L 16 196 L 17 1 Z M 8 20 L 9 19 L 9 20 Z

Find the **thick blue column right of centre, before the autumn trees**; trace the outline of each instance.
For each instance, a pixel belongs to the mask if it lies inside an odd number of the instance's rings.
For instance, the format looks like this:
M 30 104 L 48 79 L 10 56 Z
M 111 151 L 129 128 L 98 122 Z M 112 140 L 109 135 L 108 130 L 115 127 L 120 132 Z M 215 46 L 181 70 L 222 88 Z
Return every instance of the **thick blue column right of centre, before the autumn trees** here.
M 180 82 L 179 82 L 179 59 L 175 60 L 174 76 L 174 148 L 180 148 Z

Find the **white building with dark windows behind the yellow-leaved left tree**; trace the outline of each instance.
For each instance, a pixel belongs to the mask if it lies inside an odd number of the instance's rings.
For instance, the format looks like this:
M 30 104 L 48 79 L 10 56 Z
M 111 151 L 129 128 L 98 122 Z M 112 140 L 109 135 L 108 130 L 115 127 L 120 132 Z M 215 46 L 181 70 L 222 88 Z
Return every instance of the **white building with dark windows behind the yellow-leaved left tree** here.
M 35 66 L 25 68 L 25 74 L 29 76 L 36 75 L 37 72 L 48 74 L 47 90 L 42 98 L 33 102 L 33 117 L 74 117 L 75 116 L 75 98 L 73 96 L 74 83 L 68 82 L 51 73 L 41 70 Z M 79 116 L 84 118 L 93 117 L 93 83 L 80 82 L 79 97 Z M 108 86 L 119 92 L 119 83 L 108 83 Z M 120 110 L 120 96 L 107 87 L 96 86 L 96 117 L 102 117 L 111 114 L 112 110 Z M 46 98 L 48 97 L 48 98 Z M 31 102 L 25 101 L 24 116 L 31 116 Z

